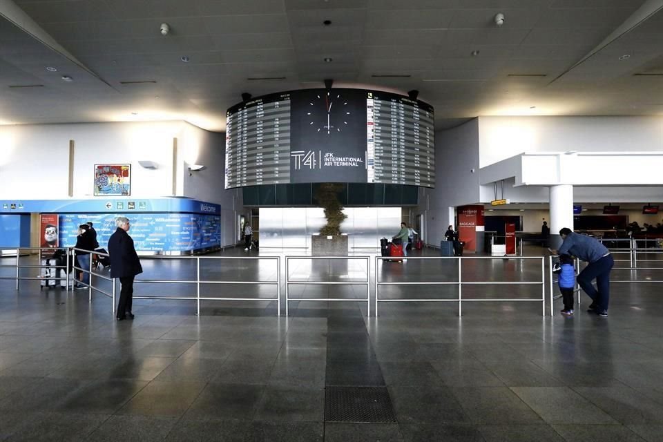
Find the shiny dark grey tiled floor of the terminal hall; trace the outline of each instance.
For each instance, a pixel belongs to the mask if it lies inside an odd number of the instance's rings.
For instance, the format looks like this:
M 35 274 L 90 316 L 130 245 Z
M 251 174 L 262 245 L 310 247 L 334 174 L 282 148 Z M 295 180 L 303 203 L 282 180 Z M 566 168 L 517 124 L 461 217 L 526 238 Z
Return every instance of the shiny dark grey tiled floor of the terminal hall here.
M 193 262 L 144 260 L 142 277 L 191 279 Z M 210 279 L 276 278 L 270 263 L 201 266 Z M 391 282 L 454 281 L 456 266 L 408 260 L 378 273 Z M 290 268 L 298 280 L 352 281 L 365 272 L 343 262 Z M 463 262 L 463 278 L 475 282 L 539 276 L 538 261 Z M 276 302 L 206 301 L 198 317 L 191 301 L 135 300 L 135 320 L 122 323 L 105 296 L 88 302 L 86 291 L 14 285 L 0 280 L 3 441 L 663 440 L 660 284 L 613 284 L 608 318 L 582 308 L 574 318 L 541 316 L 540 302 L 467 302 L 460 318 L 457 302 L 384 302 L 378 318 L 367 318 L 365 302 L 327 301 L 291 302 L 289 318 L 276 316 Z M 195 285 L 136 289 L 195 294 Z M 361 285 L 291 289 L 293 297 L 365 296 Z M 455 290 L 390 285 L 380 296 L 454 298 Z M 276 291 L 209 285 L 202 293 L 270 298 Z M 463 287 L 463 298 L 540 296 L 535 285 Z M 395 421 L 325 422 L 329 387 L 386 391 Z

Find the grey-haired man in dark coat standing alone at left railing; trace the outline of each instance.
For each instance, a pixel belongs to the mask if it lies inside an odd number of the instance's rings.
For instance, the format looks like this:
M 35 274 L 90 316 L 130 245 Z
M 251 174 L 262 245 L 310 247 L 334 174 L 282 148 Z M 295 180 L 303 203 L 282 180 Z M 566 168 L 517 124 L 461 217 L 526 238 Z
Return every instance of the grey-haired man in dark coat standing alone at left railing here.
M 108 240 L 108 255 L 111 256 L 111 278 L 119 278 L 122 289 L 117 304 L 117 320 L 133 319 L 133 278 L 143 273 L 138 254 L 133 247 L 133 239 L 128 235 L 129 220 L 124 216 L 115 219 L 117 230 Z

